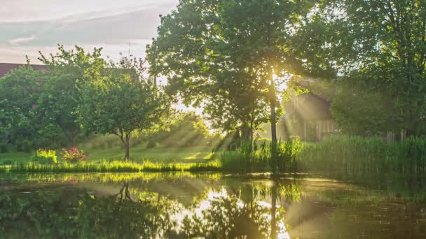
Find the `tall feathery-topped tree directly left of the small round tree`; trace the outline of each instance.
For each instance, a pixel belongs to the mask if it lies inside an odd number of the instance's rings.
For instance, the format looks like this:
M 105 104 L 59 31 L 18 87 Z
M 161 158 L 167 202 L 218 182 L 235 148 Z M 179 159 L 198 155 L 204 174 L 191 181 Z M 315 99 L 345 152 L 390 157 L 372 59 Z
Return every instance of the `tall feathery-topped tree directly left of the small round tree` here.
M 94 72 L 104 66 L 101 48 L 85 52 L 83 48 L 65 50 L 58 45 L 58 52 L 47 57 L 40 52 L 39 60 L 46 65 L 43 90 L 37 100 L 36 124 L 39 129 L 39 141 L 44 145 L 58 147 L 71 145 L 80 133 L 80 124 L 74 114 L 80 93 L 78 84 L 83 84 Z

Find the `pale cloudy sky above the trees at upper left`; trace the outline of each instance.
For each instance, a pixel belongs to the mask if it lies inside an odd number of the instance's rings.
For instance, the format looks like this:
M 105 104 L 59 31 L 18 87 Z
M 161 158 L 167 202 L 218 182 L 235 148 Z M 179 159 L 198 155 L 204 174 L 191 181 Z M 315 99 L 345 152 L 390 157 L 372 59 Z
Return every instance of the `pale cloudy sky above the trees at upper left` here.
M 0 0 L 0 62 L 39 64 L 57 44 L 85 50 L 102 47 L 102 56 L 145 56 L 156 36 L 159 15 L 179 0 Z

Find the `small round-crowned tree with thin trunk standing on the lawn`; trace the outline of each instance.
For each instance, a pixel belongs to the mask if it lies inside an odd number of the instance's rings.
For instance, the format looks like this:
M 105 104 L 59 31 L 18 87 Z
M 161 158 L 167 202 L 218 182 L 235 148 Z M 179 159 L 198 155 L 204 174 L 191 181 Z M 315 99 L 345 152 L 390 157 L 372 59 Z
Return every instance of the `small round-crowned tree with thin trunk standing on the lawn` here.
M 144 70 L 142 59 L 122 57 L 90 74 L 80 88 L 76 113 L 83 130 L 118 136 L 125 147 L 125 159 L 129 159 L 132 134 L 158 126 L 170 108 L 167 96 L 144 78 Z

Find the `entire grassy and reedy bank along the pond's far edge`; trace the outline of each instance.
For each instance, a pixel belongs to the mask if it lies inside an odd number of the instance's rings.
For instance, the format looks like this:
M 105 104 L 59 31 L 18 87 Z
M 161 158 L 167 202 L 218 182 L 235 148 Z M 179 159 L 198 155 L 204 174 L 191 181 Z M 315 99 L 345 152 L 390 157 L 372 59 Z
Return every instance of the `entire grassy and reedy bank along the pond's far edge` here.
M 90 158 L 81 164 L 44 165 L 22 160 L 5 160 L 11 166 L 0 171 L 16 173 L 41 172 L 169 172 L 222 171 L 249 172 L 341 172 L 341 173 L 424 173 L 426 171 L 426 138 L 407 138 L 388 144 L 383 138 L 333 136 L 318 143 L 301 143 L 298 139 L 277 143 L 271 154 L 270 143 L 245 143 L 234 151 L 217 152 L 212 158 L 209 147 L 133 148 L 132 161 L 117 160 L 108 149 L 88 152 Z M 118 149 L 112 149 L 118 150 Z M 122 150 L 122 149 L 120 149 Z M 95 156 L 93 156 L 95 154 Z M 110 157 L 106 157 L 109 155 Z M 139 155 L 137 158 L 135 155 Z M 104 157 L 102 159 L 101 157 Z M 0 154 L 2 157 L 2 154 Z M 13 159 L 13 154 L 8 154 Z M 163 157 L 163 158 L 161 158 Z M 1 160 L 1 159 L 0 159 Z M 1 161 L 0 161 L 1 164 Z

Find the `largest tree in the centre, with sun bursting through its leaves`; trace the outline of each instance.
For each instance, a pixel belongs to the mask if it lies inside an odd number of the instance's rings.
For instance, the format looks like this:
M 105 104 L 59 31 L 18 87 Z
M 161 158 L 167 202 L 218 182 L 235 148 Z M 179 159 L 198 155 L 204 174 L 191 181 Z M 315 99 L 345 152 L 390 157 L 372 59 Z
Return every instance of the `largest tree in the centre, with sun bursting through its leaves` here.
M 169 89 L 186 103 L 203 102 L 213 125 L 254 129 L 270 110 L 276 143 L 276 79 L 294 68 L 289 41 L 309 6 L 309 1 L 182 0 L 161 18 L 149 47 L 154 74 L 166 75 Z

